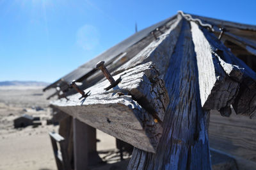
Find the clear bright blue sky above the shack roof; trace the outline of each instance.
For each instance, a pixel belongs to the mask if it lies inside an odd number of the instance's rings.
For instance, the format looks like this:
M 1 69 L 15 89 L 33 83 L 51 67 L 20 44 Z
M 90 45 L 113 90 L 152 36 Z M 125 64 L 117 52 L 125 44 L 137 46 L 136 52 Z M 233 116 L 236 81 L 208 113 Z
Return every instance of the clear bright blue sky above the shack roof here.
M 56 81 L 178 10 L 256 25 L 255 0 L 0 0 L 0 81 Z

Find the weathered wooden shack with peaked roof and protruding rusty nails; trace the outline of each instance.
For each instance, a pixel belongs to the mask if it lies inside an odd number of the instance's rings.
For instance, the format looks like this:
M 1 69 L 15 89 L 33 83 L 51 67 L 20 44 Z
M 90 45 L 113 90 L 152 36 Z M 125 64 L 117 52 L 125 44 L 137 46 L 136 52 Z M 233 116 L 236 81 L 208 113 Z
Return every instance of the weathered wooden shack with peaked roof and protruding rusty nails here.
M 134 146 L 127 169 L 211 169 L 209 138 L 234 158 L 224 169 L 255 168 L 255 57 L 247 24 L 178 12 L 135 33 L 44 89 L 58 96 L 58 169 L 101 162 L 95 128 Z

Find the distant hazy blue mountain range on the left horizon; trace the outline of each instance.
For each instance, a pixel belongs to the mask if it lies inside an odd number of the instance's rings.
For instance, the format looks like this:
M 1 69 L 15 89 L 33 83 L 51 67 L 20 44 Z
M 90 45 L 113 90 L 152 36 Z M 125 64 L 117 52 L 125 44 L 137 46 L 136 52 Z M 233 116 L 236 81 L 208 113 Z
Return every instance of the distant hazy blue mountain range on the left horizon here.
M 47 86 L 48 82 L 40 81 L 0 81 L 0 86 Z

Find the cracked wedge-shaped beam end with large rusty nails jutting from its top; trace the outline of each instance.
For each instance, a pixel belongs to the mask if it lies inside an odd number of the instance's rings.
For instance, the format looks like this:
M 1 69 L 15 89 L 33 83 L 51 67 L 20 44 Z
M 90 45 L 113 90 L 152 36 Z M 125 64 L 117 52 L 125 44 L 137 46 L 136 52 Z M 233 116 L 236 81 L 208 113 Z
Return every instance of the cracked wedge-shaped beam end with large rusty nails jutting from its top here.
M 163 80 L 152 63 L 139 65 L 116 76 L 122 81 L 109 91 L 108 81 L 91 88 L 90 96 L 82 98 L 79 93 L 52 102 L 88 125 L 132 144 L 136 148 L 155 152 L 163 128 L 161 122 L 169 104 Z

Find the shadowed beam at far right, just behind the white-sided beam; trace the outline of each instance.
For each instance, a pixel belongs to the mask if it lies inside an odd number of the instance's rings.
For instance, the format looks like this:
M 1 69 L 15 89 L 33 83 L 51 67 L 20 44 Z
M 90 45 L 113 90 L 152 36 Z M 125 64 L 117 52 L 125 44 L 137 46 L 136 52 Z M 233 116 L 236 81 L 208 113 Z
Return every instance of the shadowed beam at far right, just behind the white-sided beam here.
M 205 38 L 213 49 L 218 49 L 218 56 L 230 65 L 237 65 L 244 69 L 243 77 L 239 81 L 239 91 L 232 106 L 236 114 L 244 114 L 250 118 L 256 116 L 256 73 L 241 59 L 236 58 L 216 36 L 202 28 Z M 236 76 L 235 76 L 236 77 Z

